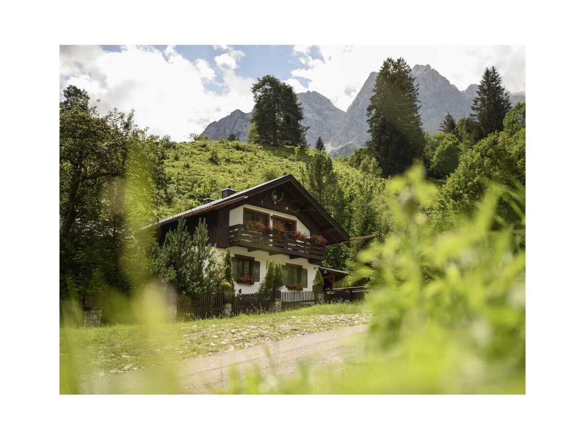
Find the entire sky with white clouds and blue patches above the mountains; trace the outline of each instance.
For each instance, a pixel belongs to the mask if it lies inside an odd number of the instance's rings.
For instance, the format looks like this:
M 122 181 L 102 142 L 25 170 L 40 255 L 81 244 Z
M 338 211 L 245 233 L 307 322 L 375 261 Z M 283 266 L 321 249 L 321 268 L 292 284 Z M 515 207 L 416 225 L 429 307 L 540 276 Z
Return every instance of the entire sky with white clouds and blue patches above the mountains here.
M 387 57 L 430 64 L 459 90 L 494 65 L 525 90 L 524 46 L 60 46 L 60 89 L 84 88 L 102 113 L 135 109 L 149 132 L 185 140 L 234 111 L 252 111 L 250 87 L 272 74 L 346 111 Z

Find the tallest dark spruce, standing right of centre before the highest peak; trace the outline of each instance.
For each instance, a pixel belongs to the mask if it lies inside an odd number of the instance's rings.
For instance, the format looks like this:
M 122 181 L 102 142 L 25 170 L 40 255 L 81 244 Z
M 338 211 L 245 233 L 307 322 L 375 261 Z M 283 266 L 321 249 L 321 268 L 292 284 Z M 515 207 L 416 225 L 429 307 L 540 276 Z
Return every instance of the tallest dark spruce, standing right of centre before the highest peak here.
M 388 58 L 378 72 L 367 107 L 367 143 L 384 177 L 404 172 L 424 147 L 418 87 L 403 58 Z

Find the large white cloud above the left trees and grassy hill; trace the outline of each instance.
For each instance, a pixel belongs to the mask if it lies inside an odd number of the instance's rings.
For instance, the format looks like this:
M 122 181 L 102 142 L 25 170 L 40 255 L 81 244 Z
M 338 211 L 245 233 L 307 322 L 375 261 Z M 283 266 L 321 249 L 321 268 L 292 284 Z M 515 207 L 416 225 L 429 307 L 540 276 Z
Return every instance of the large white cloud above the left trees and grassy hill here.
M 240 52 L 240 51 L 233 51 Z M 243 52 L 232 54 L 243 56 Z M 222 94 L 205 90 L 214 78 L 225 83 Z M 98 46 L 68 46 L 60 51 L 60 86 L 85 88 L 99 111 L 116 107 L 136 110 L 136 122 L 149 132 L 185 140 L 236 108 L 252 111 L 252 78 L 233 70 L 218 74 L 205 60 L 191 62 L 173 46 L 164 52 L 149 46 L 124 46 L 122 52 L 105 52 Z

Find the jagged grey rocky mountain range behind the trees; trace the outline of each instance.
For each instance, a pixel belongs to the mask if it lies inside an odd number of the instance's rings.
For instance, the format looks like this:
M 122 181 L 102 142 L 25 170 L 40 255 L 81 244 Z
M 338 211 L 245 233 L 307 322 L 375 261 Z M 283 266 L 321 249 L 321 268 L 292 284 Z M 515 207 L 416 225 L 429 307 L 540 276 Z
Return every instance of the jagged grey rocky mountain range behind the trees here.
M 350 154 L 356 148 L 364 146 L 370 135 L 367 124 L 367 107 L 373 94 L 377 73 L 368 76 L 361 90 L 357 93 L 347 112 L 335 107 L 324 95 L 316 91 L 298 93 L 297 98 L 304 111 L 302 125 L 309 126 L 307 143 L 315 145 L 319 136 L 334 156 Z M 412 77 L 418 85 L 418 99 L 421 105 L 422 129 L 434 134 L 449 112 L 455 120 L 467 117 L 472 112 L 473 98 L 477 95 L 477 84 L 471 84 L 464 91 L 460 91 L 447 78 L 434 68 L 415 65 L 412 68 Z M 518 102 L 525 102 L 524 92 L 510 94 L 512 106 Z M 233 111 L 229 116 L 212 122 L 205 128 L 204 134 L 210 139 L 217 140 L 220 136 L 235 133 L 240 140 L 244 140 L 250 127 L 252 113 L 240 110 Z

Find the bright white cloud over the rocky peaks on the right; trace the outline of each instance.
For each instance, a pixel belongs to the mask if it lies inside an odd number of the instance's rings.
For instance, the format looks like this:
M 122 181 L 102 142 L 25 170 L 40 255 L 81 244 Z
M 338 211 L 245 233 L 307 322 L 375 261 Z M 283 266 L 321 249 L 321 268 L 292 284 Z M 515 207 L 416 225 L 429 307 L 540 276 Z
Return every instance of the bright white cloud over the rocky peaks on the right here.
M 370 72 L 378 71 L 388 57 L 404 57 L 411 67 L 430 64 L 460 90 L 479 83 L 484 68 L 494 65 L 510 91 L 525 90 L 524 46 L 318 46 L 318 49 L 323 61 L 311 56 L 311 46 L 294 47 L 293 54 L 303 66 L 291 71 L 287 82 L 297 84 L 296 78 L 305 78 L 309 81 L 308 90 L 325 95 L 344 111 Z

